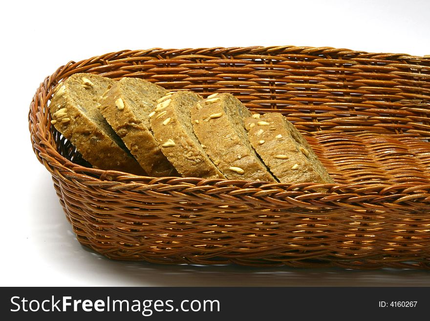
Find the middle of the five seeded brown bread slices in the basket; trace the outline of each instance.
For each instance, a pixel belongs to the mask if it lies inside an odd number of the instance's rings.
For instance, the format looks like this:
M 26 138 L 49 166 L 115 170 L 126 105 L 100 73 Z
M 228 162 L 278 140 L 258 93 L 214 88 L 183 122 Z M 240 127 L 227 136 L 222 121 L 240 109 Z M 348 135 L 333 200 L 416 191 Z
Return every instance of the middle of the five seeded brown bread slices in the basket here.
M 151 112 L 151 129 L 161 151 L 184 177 L 225 178 L 194 136 L 191 108 L 202 97 L 178 91 L 161 99 Z

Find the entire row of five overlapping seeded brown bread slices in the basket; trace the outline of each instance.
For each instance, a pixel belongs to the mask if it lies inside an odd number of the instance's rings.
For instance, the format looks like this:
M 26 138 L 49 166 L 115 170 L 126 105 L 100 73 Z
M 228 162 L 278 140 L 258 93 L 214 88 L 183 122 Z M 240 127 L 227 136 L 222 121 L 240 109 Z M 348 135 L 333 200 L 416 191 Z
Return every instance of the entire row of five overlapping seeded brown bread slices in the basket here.
M 333 183 L 282 114 L 252 115 L 228 93 L 203 99 L 139 78 L 77 73 L 57 86 L 49 110 L 53 126 L 94 168 L 155 177 Z

